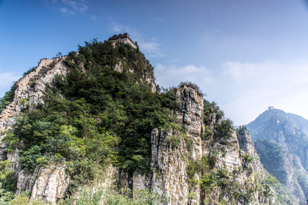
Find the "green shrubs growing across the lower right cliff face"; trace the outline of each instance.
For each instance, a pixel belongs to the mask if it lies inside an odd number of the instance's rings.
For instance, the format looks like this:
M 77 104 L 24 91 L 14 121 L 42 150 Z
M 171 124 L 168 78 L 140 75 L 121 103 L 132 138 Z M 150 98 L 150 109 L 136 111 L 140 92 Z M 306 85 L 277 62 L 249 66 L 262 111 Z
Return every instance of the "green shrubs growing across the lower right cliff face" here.
M 246 179 L 241 184 L 237 181 L 236 170 L 231 173 L 226 168 L 214 168 L 211 165 L 211 160 L 215 160 L 213 154 L 209 159 L 203 156 L 201 159 L 190 161 L 187 168 L 189 187 L 194 188 L 197 185 L 200 187 L 202 204 L 238 204 L 239 201 L 242 204 L 248 204 L 255 200 L 254 194 L 257 192 L 264 197 L 271 194 L 263 177 L 255 175 L 254 180 Z M 199 180 L 196 174 L 201 176 Z M 217 201 L 213 199 L 211 194 L 218 189 L 221 191 Z

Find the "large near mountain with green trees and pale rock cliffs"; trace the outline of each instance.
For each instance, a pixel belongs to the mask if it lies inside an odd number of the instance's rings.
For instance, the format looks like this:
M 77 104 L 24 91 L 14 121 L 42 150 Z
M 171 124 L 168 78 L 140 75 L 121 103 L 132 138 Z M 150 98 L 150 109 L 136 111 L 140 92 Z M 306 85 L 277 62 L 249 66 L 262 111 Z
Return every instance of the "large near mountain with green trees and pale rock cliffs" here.
M 0 180 L 11 185 L 1 196 L 29 191 L 56 204 L 98 182 L 135 196 L 152 189 L 170 199 L 160 204 L 268 202 L 251 139 L 238 139 L 195 84 L 161 91 L 154 80 L 143 54 L 121 42 L 41 60 L 0 116 Z

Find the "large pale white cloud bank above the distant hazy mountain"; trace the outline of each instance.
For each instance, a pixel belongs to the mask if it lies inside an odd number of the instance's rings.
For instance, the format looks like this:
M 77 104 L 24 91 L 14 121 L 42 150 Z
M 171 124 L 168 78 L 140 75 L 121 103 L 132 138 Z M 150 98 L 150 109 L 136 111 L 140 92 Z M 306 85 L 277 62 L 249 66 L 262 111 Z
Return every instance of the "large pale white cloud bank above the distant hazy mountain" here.
M 308 62 L 228 61 L 215 69 L 157 64 L 155 75 L 163 87 L 196 83 L 236 125 L 253 121 L 268 106 L 308 118 Z

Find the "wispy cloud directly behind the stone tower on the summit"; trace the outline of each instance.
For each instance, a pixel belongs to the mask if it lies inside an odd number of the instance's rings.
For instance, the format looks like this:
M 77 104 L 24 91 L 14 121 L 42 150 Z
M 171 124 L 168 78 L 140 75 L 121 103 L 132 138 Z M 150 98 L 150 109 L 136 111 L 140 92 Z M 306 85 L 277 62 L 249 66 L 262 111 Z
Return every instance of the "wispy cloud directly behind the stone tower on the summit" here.
M 137 31 L 137 29 L 130 26 L 123 26 L 118 23 L 111 23 L 109 30 L 114 33 L 128 33 L 132 40 L 138 42 L 138 46 L 142 52 L 145 52 L 148 57 L 161 57 L 164 54 L 161 52 L 158 43 L 158 38 L 147 38 Z

